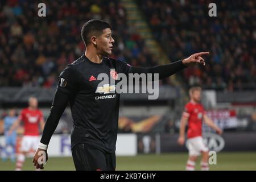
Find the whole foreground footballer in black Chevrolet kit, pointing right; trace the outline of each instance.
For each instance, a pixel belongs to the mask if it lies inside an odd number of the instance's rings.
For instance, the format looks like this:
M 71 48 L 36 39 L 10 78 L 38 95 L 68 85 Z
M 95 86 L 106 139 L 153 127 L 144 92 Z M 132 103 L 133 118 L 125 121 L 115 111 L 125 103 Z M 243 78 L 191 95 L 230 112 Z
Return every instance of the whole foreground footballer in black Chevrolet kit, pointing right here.
M 51 112 L 33 159 L 36 168 L 43 168 L 43 164 L 38 163 L 38 152 L 44 150 L 47 154 L 49 140 L 69 102 L 73 118 L 71 148 L 76 170 L 115 170 L 119 113 L 119 94 L 115 85 L 120 81 L 117 80 L 118 73 L 126 76 L 129 73 L 158 73 L 162 79 L 187 65 L 204 64 L 201 55 L 207 53 L 196 53 L 187 59 L 152 68 L 133 67 L 105 57 L 111 54 L 114 43 L 110 28 L 102 20 L 89 20 L 82 28 L 86 53 L 60 73 Z M 97 79 L 101 73 L 108 75 L 105 84 L 100 84 L 102 80 Z

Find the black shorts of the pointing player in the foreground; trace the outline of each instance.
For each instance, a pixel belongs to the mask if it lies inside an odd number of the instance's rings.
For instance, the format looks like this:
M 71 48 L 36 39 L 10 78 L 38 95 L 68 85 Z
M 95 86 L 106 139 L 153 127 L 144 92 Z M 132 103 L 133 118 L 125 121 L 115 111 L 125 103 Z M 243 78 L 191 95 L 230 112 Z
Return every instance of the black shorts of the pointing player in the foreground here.
M 77 171 L 115 170 L 115 153 L 104 152 L 85 143 L 76 144 L 72 156 Z

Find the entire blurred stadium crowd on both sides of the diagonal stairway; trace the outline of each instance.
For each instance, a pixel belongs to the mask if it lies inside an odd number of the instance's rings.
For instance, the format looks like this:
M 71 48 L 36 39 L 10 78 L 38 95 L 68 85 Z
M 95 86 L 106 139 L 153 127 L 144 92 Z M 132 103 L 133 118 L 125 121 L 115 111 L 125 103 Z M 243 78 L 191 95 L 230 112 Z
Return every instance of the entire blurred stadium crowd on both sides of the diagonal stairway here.
M 113 57 L 131 65 L 154 66 L 158 60 L 143 39 L 127 26 L 126 11 L 115 1 L 44 1 L 47 16 L 39 18 L 38 2 L 0 2 L 0 86 L 56 85 L 65 65 L 85 51 L 82 24 L 92 18 L 113 26 Z M 203 1 L 137 1 L 156 40 L 170 60 L 209 51 L 205 68 L 185 69 L 189 85 L 220 90 L 255 89 L 256 20 L 254 1 L 222 1 L 210 18 Z

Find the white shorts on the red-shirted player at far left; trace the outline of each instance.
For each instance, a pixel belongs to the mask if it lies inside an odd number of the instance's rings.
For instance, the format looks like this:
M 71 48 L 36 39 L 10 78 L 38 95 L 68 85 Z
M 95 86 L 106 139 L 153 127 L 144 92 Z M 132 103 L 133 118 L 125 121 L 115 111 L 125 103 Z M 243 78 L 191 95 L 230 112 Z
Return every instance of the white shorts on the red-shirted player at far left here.
M 36 151 L 38 149 L 39 137 L 38 136 L 28 136 L 25 135 L 22 138 L 21 148 L 22 152 L 29 152 L 32 150 Z

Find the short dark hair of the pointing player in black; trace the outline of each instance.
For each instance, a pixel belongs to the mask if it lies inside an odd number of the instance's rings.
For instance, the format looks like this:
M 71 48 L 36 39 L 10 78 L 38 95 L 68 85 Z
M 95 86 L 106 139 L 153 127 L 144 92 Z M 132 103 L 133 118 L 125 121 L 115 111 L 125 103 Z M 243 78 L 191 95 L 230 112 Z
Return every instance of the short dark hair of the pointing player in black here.
M 105 28 L 112 28 L 108 22 L 100 19 L 90 19 L 82 26 L 81 36 L 85 43 L 85 46 L 90 43 L 92 36 L 98 36 L 102 34 L 102 30 Z

